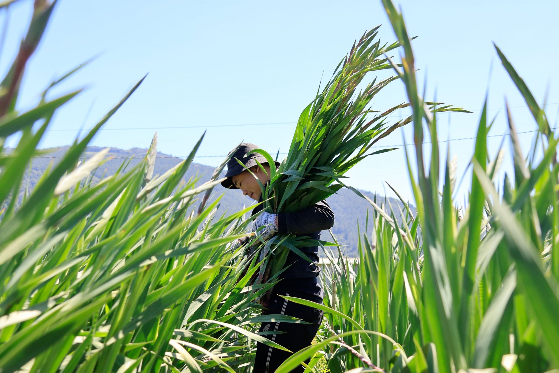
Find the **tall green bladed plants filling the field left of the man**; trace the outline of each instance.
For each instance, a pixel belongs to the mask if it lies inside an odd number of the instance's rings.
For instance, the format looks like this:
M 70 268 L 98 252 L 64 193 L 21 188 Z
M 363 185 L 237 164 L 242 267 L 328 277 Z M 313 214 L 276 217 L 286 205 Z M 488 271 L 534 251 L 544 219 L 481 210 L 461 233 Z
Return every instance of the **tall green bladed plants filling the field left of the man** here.
M 5 4 L 4 4 L 5 5 Z M 36 187 L 18 201 L 37 144 L 64 103 L 15 111 L 25 65 L 55 3 L 36 1 L 26 39 L 0 87 L 0 372 L 200 372 L 250 370 L 259 315 L 271 284 L 247 286 L 254 259 L 226 245 L 243 237 L 244 213 L 217 215 L 207 196 L 220 180 L 183 182 L 186 160 L 153 175 L 157 141 L 143 162 L 92 183 L 108 149 L 80 158 L 98 130 L 140 85 L 109 110 Z M 203 137 L 203 136 L 202 136 Z M 225 163 L 224 163 L 225 164 Z M 205 196 L 199 198 L 200 193 Z

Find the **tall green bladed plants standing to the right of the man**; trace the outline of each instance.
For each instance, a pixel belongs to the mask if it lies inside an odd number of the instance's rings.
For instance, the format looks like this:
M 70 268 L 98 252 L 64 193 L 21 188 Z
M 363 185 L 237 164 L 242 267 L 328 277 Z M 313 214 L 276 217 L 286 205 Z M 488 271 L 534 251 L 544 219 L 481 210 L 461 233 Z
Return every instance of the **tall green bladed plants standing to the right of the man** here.
M 406 157 L 417 210 L 413 214 L 405 205 L 400 214 L 407 218 L 399 225 L 394 219 L 399 207 L 368 200 L 374 212 L 362 227 L 359 263 L 331 257 L 333 266 L 324 272 L 330 284 L 321 306 L 326 311 L 324 340 L 277 372 L 313 356 L 311 365 L 325 357 L 333 373 L 557 371 L 557 135 L 495 47 L 539 132 L 526 157 L 507 111 L 514 171 L 501 183 L 504 151 L 490 158 L 485 103 L 468 202 L 458 207 L 453 200 L 456 169 L 451 159 L 440 159 L 437 118 L 418 94 L 404 20 L 390 0 L 383 4 L 404 49 L 401 65 L 392 67 L 413 108 L 415 147 L 413 154 L 406 148 Z M 430 154 L 425 154 L 424 140 L 432 144 Z M 534 157 L 538 152 L 542 157 Z

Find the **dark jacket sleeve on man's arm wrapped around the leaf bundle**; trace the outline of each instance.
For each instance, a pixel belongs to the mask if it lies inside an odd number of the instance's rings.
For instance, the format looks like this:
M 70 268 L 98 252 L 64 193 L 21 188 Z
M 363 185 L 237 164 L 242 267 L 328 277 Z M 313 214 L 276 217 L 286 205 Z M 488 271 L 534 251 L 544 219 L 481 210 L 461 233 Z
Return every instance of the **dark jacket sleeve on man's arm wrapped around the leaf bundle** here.
M 307 234 L 330 229 L 334 225 L 334 212 L 326 201 L 320 201 L 296 213 L 278 214 L 278 233 Z

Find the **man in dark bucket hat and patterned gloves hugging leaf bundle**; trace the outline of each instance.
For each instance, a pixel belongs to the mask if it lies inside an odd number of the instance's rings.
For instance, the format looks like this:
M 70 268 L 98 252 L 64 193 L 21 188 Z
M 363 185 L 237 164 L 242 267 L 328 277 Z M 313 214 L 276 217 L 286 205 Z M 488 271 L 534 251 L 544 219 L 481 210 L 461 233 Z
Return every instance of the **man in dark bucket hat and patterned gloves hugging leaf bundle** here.
M 271 165 L 267 163 L 263 155 L 252 153 L 254 149 L 259 148 L 251 143 L 240 145 L 228 162 L 228 170 L 225 174 L 226 180 L 221 185 L 225 188 L 239 189 L 243 191 L 243 195 L 262 202 L 262 192 L 260 191 L 257 178 L 263 185 L 266 185 Z M 247 154 L 248 156 L 245 157 Z M 244 167 L 236 159 L 240 160 Z M 262 164 L 264 170 L 258 166 L 257 160 Z M 272 165 L 272 167 L 278 166 L 279 163 L 277 162 L 275 165 Z M 252 211 L 252 216 L 261 210 L 262 205 L 258 205 Z M 296 213 L 270 214 L 264 211 L 253 221 L 253 231 L 258 230 L 258 233 L 264 239 L 269 239 L 275 234 L 295 234 L 310 237 L 311 239 L 320 239 L 320 231 L 330 229 L 333 225 L 334 213 L 325 201 L 320 201 L 314 206 L 297 211 Z M 260 230 L 259 228 L 261 227 L 264 228 Z M 235 244 L 240 245 L 245 242 L 247 242 L 246 239 L 240 239 Z M 267 336 L 266 333 L 268 331 L 285 332 L 281 334 L 268 334 L 268 338 L 293 352 L 310 346 L 323 318 L 321 310 L 287 301 L 280 296 L 294 296 L 322 304 L 323 290 L 318 279 L 320 268 L 316 265 L 319 261 L 319 248 L 316 246 L 302 247 L 300 250 L 311 259 L 312 263 L 305 261 L 305 259 L 292 251 L 288 253 L 285 263 L 287 269 L 281 273 L 281 281 L 274 286 L 272 296 L 268 302 L 268 310 L 265 310 L 264 313 L 288 315 L 300 318 L 311 324 L 262 323 L 259 330 L 264 336 Z M 253 372 L 271 373 L 289 356 L 291 356 L 289 352 L 258 343 Z M 292 372 L 303 371 L 304 368 L 302 366 L 292 370 Z

